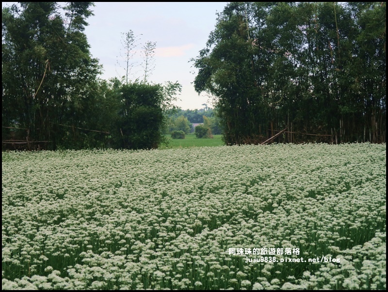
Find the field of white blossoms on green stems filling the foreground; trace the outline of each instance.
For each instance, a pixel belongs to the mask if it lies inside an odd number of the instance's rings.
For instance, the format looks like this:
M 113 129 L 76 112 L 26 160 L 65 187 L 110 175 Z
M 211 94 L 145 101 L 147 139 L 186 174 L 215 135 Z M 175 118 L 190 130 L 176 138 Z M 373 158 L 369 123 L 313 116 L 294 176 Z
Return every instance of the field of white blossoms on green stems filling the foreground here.
M 386 289 L 386 145 L 2 152 L 2 289 Z

